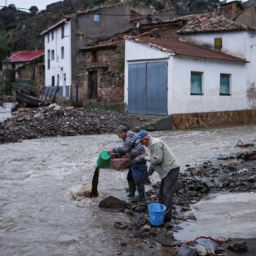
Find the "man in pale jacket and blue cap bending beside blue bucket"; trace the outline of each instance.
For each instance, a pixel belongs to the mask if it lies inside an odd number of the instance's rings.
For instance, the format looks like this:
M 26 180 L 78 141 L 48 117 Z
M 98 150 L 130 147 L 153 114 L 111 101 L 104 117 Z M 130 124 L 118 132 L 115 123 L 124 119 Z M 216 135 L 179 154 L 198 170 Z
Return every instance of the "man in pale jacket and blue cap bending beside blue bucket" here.
M 166 206 L 165 221 L 170 221 L 180 167 L 173 152 L 162 140 L 151 137 L 145 130 L 140 130 L 138 140 L 148 147 L 149 156 L 140 157 L 141 160 L 150 162 L 148 176 L 156 171 L 161 178 L 158 202 Z

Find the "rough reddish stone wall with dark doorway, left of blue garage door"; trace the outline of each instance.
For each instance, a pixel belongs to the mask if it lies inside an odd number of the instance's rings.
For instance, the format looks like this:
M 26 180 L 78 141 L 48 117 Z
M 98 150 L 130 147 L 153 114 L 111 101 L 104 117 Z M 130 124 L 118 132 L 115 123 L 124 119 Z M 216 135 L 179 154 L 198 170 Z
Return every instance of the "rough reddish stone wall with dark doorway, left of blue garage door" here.
M 88 102 L 88 75 L 90 71 L 97 71 L 97 102 L 124 109 L 124 42 L 116 47 L 97 49 L 97 61 L 93 59 L 92 50 L 84 54 L 86 75 L 80 80 L 83 85 L 79 88 L 80 102 L 82 105 Z

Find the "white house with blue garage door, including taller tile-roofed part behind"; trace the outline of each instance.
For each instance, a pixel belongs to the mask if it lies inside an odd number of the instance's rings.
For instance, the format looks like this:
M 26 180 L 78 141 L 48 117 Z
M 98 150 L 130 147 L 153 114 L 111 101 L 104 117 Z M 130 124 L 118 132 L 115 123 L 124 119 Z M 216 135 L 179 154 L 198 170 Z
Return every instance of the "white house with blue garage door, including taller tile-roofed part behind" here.
M 255 109 L 255 31 L 213 13 L 166 22 L 177 20 L 184 21 L 178 39 L 126 38 L 124 101 L 129 113 Z

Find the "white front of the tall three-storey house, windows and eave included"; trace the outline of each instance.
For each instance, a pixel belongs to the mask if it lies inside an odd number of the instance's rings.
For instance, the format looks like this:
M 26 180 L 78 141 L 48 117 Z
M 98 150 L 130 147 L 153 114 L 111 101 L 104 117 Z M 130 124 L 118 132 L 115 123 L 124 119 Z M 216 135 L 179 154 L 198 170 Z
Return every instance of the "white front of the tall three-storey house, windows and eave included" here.
M 70 98 L 71 90 L 71 26 L 64 18 L 41 35 L 45 37 L 45 86 L 58 86 L 58 94 Z

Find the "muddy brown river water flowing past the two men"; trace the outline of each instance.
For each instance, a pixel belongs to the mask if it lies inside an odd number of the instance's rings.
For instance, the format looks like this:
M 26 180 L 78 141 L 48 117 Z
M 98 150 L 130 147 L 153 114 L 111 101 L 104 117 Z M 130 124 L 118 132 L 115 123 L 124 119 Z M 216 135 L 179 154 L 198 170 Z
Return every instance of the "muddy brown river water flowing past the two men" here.
M 152 134 L 167 142 L 184 170 L 186 164 L 217 161 L 220 153 L 241 151 L 234 146 L 238 140 L 252 143 L 256 128 L 239 126 Z M 99 197 L 75 201 L 69 196 L 70 189 L 91 185 L 99 153 L 116 145 L 121 145 L 116 135 L 45 138 L 0 145 L 0 255 L 123 252 L 120 241 L 128 236 L 123 230 L 113 229 L 113 223 L 127 222 L 129 217 L 99 208 L 98 203 L 109 195 L 127 199 L 124 190 L 127 171 L 99 170 Z M 152 179 L 159 181 L 155 173 Z M 238 223 L 244 217 L 241 214 Z M 222 220 L 219 222 L 221 225 Z M 251 234 L 254 235 L 248 231 L 247 235 Z M 127 246 L 125 250 L 132 248 Z

